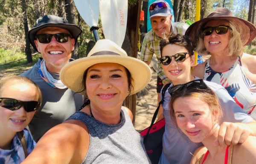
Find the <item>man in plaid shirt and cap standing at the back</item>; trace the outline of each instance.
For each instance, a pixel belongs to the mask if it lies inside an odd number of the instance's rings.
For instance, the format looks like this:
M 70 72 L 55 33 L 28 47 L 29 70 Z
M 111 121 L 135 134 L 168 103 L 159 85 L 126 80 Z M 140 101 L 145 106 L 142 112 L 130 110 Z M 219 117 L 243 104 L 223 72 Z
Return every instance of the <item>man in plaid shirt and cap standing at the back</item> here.
M 156 54 L 157 59 L 161 57 L 159 42 L 164 34 L 185 34 L 189 25 L 181 22 L 172 23 L 173 16 L 171 14 L 171 9 L 165 0 L 154 1 L 149 6 L 148 10 L 152 29 L 145 34 L 139 59 L 149 65 L 154 54 Z M 165 76 L 159 61 L 157 63 L 157 67 L 157 102 L 160 102 L 161 88 L 164 84 L 170 82 L 170 80 Z M 158 113 L 158 120 L 160 120 L 163 118 L 162 107 L 160 107 Z

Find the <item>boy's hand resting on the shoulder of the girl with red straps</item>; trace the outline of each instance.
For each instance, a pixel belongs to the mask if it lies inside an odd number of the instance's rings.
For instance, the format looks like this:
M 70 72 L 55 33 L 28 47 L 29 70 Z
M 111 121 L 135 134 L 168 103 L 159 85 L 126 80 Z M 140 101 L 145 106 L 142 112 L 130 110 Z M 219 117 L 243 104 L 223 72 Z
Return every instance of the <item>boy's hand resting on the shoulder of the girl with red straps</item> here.
M 218 144 L 221 147 L 243 143 L 251 133 L 245 123 L 223 122 L 218 132 Z

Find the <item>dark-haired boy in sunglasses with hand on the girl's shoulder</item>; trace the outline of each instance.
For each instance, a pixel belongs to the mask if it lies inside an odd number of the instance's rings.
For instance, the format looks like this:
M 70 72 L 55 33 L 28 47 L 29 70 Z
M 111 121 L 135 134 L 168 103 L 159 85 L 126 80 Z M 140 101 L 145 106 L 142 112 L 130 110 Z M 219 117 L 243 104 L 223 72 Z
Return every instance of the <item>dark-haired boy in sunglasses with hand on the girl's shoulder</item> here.
M 175 85 L 175 89 L 178 90 L 180 85 L 191 88 L 202 84 L 203 80 L 191 73 L 191 67 L 195 61 L 193 49 L 189 37 L 180 34 L 166 36 L 160 41 L 160 62 L 164 73 L 172 81 L 169 88 Z M 234 102 L 227 90 L 213 82 L 206 81 L 205 83 L 218 95 L 224 113 L 218 144 L 221 146 L 237 144 L 243 142 L 249 135 L 256 135 L 255 122 Z M 166 128 L 163 134 L 163 151 L 159 162 L 162 164 L 188 164 L 192 158 L 192 153 L 202 144 L 192 142 L 173 124 L 169 110 L 170 99 L 171 95 L 167 90 L 163 102 Z

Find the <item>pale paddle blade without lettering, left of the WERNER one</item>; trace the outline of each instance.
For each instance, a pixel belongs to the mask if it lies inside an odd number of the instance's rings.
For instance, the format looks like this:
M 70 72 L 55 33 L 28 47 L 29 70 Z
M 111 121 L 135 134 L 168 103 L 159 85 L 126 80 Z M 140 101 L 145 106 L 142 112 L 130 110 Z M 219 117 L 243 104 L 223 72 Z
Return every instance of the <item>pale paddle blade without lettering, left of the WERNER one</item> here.
M 77 11 L 90 27 L 99 21 L 99 0 L 74 0 Z

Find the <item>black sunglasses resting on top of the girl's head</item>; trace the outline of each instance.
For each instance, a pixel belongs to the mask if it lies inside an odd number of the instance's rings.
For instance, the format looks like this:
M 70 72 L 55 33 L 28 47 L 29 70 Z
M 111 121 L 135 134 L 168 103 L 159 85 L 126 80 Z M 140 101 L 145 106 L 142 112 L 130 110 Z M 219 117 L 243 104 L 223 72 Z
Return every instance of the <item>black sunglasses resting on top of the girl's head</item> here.
M 174 85 L 171 88 L 169 88 L 168 92 L 172 96 L 173 93 L 182 90 L 184 88 L 190 89 L 190 88 L 198 88 L 198 89 L 207 89 L 207 85 L 204 83 L 203 79 L 197 79 L 190 82 L 187 82 L 185 84 L 179 84 Z

